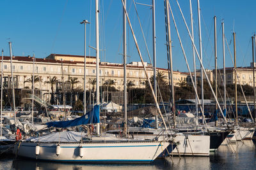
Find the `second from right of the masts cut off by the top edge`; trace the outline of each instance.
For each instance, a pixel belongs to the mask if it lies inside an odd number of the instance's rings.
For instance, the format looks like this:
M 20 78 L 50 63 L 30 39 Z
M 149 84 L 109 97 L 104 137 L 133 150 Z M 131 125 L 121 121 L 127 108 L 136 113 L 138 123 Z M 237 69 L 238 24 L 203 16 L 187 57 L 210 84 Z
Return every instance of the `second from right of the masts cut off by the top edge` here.
M 192 36 L 192 39 L 194 41 L 194 27 L 193 27 L 193 11 L 192 11 L 192 3 L 191 3 L 191 0 L 189 0 L 189 6 L 190 6 L 190 19 L 191 19 L 191 36 Z M 196 88 L 196 58 L 195 58 L 195 48 L 193 46 L 193 43 L 192 43 L 192 48 L 193 48 L 193 62 L 194 62 L 194 82 L 195 82 L 195 90 L 197 92 L 197 88 Z M 195 100 L 196 100 L 196 103 L 195 103 L 195 108 L 196 108 L 196 116 L 198 118 L 198 101 L 197 101 L 197 97 L 195 96 Z

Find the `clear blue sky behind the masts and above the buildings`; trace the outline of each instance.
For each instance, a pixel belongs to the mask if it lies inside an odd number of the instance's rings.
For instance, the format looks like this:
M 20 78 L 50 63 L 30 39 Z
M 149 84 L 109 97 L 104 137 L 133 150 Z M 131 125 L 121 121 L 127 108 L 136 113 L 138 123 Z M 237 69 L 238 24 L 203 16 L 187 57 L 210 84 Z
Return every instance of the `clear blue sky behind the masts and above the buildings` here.
M 150 4 L 151 1 L 135 0 L 137 3 Z M 179 1 L 182 11 L 190 27 L 189 0 Z M 195 43 L 198 48 L 197 3 L 193 3 Z M 87 45 L 95 46 L 95 2 L 94 0 L 1 0 L 0 48 L 4 55 L 9 55 L 8 41 L 13 43 L 14 55 L 33 55 L 47 57 L 50 53 L 83 55 L 84 27 L 79 24 L 84 19 L 91 22 L 87 27 Z M 177 22 L 182 43 L 184 45 L 189 65 L 193 67 L 191 41 L 175 1 L 171 1 L 173 14 Z M 225 20 L 225 34 L 228 43 L 232 31 L 236 32 L 237 66 L 249 66 L 252 60 L 251 36 L 256 30 L 256 1 L 214 0 L 200 1 L 202 10 L 202 43 L 204 66 L 214 67 L 214 25 L 213 17 L 217 17 L 218 34 L 218 66 L 222 67 L 221 20 Z M 147 45 L 152 57 L 152 16 L 148 6 L 137 4 L 138 13 L 147 39 Z M 140 25 L 132 1 L 128 2 L 127 10 L 140 45 L 143 59 L 149 62 L 145 44 L 142 39 Z M 188 71 L 180 50 L 179 40 L 171 20 L 173 41 L 173 66 L 175 70 Z M 127 25 L 128 26 L 128 25 Z M 138 52 L 134 46 L 131 31 L 128 29 L 127 59 L 139 61 Z M 157 36 L 157 67 L 167 68 L 166 38 L 164 25 L 164 1 L 156 0 L 156 36 Z M 10 38 L 10 39 L 9 39 Z M 233 43 L 228 45 L 233 53 Z M 100 59 L 108 62 L 122 62 L 122 3 L 119 0 L 100 0 Z M 199 48 L 198 48 L 199 50 Z M 95 56 L 95 51 L 87 48 L 87 55 Z M 226 64 L 232 66 L 228 47 L 226 46 Z M 199 64 L 197 62 L 197 67 Z

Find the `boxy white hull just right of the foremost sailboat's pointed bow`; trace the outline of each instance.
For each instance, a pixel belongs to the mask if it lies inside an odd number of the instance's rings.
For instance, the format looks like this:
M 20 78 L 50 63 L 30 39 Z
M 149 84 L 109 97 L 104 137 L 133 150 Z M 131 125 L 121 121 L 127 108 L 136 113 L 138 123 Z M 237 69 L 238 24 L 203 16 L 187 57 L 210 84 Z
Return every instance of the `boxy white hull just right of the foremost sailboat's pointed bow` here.
M 175 142 L 179 143 L 171 155 L 180 156 L 209 156 L 210 136 L 204 135 L 177 135 Z

